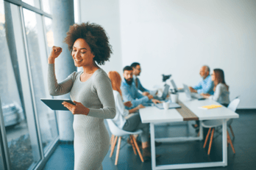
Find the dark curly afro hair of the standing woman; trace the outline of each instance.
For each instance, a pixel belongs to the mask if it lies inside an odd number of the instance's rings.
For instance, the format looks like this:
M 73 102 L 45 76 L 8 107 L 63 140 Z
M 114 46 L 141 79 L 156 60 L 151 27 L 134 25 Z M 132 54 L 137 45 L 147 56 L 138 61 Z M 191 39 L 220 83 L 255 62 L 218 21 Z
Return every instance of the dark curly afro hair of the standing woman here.
M 102 26 L 89 22 L 70 26 L 67 37 L 64 39 L 64 42 L 68 44 L 69 51 L 72 51 L 74 42 L 79 38 L 88 43 L 90 51 L 94 55 L 93 60 L 99 65 L 110 61 L 112 46 L 108 42 L 107 34 Z

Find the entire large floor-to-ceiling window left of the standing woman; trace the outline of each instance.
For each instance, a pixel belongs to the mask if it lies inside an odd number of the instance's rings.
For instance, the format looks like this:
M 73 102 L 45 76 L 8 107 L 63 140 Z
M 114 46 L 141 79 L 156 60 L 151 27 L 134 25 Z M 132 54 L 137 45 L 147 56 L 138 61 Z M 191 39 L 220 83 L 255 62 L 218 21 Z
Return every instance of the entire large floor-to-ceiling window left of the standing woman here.
M 49 0 L 22 1 L 0 0 L 0 169 L 34 169 L 58 139 L 56 113 L 40 101 L 51 98 Z

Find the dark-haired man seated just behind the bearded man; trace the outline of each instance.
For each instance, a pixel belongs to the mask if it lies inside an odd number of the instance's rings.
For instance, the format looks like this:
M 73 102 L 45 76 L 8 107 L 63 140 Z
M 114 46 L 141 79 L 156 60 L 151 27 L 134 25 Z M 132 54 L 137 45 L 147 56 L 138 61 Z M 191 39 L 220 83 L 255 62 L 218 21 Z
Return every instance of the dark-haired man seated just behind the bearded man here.
M 138 78 L 138 76 L 141 74 L 141 65 L 138 62 L 134 62 L 131 64 L 131 67 L 133 69 L 133 81 L 135 83 L 135 86 L 138 90 L 140 90 L 142 92 L 142 95 L 157 95 L 157 90 L 154 91 L 149 91 L 148 89 L 145 89 L 142 84 L 140 79 Z

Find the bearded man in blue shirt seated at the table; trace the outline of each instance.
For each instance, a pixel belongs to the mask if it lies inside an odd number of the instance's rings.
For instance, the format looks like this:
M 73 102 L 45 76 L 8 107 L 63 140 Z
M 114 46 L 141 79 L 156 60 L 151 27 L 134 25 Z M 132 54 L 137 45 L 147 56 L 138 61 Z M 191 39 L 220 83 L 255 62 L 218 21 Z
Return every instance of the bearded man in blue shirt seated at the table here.
M 155 100 L 152 95 L 143 96 L 135 86 L 133 82 L 133 70 L 132 67 L 124 67 L 124 81 L 121 83 L 121 92 L 123 94 L 124 102 L 131 101 L 132 108 L 135 108 L 139 105 L 143 105 L 152 100 L 153 103 L 160 103 L 159 100 Z

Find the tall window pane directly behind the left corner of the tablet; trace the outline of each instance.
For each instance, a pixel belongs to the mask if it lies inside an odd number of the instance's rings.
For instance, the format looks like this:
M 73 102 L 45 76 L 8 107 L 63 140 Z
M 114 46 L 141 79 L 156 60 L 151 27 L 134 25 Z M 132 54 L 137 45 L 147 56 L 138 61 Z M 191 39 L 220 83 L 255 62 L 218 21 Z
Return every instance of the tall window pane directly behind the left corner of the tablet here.
M 44 152 L 58 136 L 55 112 L 46 106 L 40 98 L 51 98 L 47 86 L 47 53 L 43 36 L 42 17 L 24 9 L 24 23 L 29 55 L 29 68 L 32 76 L 32 93 L 35 111 L 40 126 L 40 136 Z M 49 35 L 51 37 L 51 35 Z

